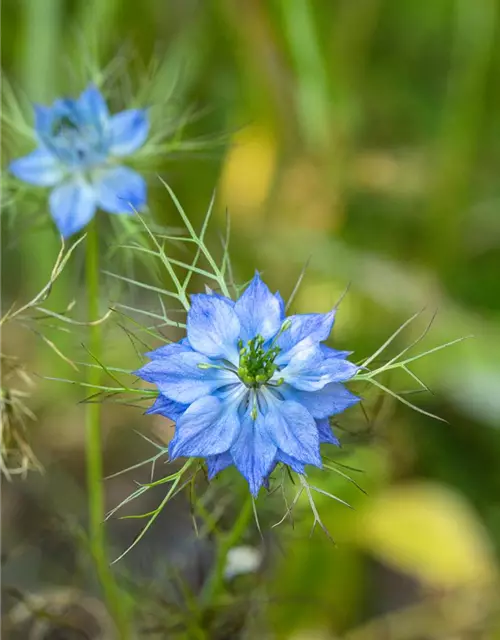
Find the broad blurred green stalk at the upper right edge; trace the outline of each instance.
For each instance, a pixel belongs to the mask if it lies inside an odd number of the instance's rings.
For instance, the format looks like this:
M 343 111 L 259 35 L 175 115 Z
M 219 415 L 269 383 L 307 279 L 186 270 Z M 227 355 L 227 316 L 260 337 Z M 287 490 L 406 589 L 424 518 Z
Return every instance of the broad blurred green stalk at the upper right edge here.
M 496 0 L 455 3 L 451 70 L 427 212 L 429 259 L 445 276 L 457 264 L 463 242 L 498 16 Z

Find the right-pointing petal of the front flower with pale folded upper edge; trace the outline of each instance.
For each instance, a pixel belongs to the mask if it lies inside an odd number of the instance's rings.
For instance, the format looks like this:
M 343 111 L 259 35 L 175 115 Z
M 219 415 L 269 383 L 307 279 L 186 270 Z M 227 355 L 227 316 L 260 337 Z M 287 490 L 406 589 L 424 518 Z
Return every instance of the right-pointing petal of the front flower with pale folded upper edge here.
M 273 380 L 285 382 L 302 391 L 318 391 L 330 382 L 345 382 L 352 378 L 359 367 L 348 360 L 325 358 L 317 345 L 303 340 L 293 349 L 289 364 L 274 374 Z

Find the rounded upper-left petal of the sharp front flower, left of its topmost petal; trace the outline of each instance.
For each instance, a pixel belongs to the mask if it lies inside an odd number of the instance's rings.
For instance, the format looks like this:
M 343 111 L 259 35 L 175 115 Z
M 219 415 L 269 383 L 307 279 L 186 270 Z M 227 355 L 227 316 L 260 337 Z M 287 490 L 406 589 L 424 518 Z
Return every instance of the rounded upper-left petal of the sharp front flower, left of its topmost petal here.
M 189 344 L 200 353 L 238 364 L 240 322 L 225 300 L 204 293 L 191 296 L 187 336 Z

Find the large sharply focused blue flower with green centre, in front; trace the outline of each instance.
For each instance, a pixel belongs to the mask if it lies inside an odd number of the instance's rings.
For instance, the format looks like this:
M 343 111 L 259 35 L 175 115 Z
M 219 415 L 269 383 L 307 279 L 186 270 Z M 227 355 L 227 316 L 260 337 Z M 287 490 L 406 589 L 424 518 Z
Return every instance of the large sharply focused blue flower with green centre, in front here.
M 136 372 L 160 392 L 148 413 L 176 422 L 170 458 L 205 458 L 210 478 L 234 464 L 253 495 L 279 462 L 320 467 L 320 443 L 338 445 L 329 416 L 359 400 L 342 385 L 357 367 L 321 344 L 334 315 L 286 318 L 258 274 L 236 302 L 192 296 L 187 337 Z

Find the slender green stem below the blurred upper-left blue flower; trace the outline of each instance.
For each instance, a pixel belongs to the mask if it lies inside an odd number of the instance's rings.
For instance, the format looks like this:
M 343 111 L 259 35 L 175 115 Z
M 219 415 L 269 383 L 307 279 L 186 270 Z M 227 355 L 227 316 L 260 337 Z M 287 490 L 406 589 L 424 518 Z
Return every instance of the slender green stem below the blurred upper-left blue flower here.
M 99 318 L 99 241 L 97 235 L 97 220 L 94 218 L 87 227 L 86 252 L 86 281 L 88 300 L 88 320 L 92 322 Z M 101 326 L 99 323 L 90 325 L 89 349 L 90 353 L 100 360 Z M 99 367 L 89 367 L 88 384 L 95 388 L 100 384 L 101 372 Z M 111 572 L 104 531 L 104 491 L 103 491 L 103 461 L 101 446 L 101 405 L 98 402 L 87 404 L 86 415 L 86 463 L 87 463 L 87 491 L 89 509 L 89 537 L 90 550 L 94 558 L 97 575 L 102 585 L 104 597 L 108 603 L 111 615 L 115 620 L 119 637 L 130 638 L 128 618 L 123 607 L 118 585 Z

